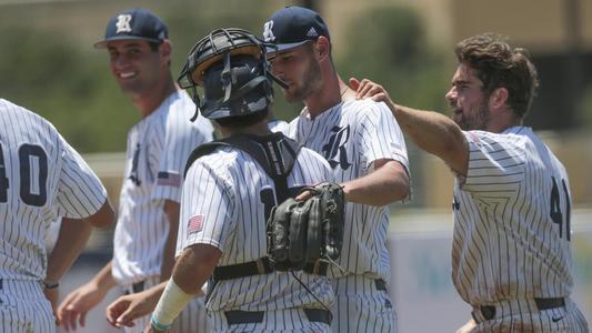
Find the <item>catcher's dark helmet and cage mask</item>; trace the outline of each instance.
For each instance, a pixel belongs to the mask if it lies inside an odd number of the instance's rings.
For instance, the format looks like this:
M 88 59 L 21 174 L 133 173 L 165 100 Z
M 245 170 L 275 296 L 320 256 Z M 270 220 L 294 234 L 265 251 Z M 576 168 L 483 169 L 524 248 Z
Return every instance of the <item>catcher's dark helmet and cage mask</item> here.
M 265 110 L 273 100 L 271 79 L 279 81 L 271 74 L 265 47 L 269 44 L 237 28 L 214 30 L 198 41 L 178 79 L 198 108 L 191 121 L 198 111 L 215 120 Z M 203 89 L 202 99 L 197 87 Z

